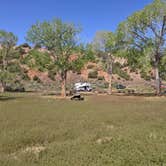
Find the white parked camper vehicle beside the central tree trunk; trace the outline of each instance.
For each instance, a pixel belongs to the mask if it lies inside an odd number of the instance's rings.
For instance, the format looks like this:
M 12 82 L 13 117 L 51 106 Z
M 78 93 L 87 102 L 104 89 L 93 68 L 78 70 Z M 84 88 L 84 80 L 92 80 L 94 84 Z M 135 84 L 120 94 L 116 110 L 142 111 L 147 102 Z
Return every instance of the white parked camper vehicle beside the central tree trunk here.
M 78 82 L 74 84 L 74 90 L 75 91 L 84 91 L 84 92 L 90 92 L 92 91 L 92 86 L 90 83 L 87 82 Z

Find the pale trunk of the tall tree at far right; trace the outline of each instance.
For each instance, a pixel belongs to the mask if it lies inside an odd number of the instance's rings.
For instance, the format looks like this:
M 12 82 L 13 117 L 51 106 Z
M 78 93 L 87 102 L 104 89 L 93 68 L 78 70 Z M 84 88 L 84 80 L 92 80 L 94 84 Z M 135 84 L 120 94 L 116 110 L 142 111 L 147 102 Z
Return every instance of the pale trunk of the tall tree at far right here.
M 155 81 L 156 81 L 156 94 L 160 95 L 161 94 L 161 82 L 160 82 L 160 74 L 159 74 L 159 68 L 158 68 L 158 64 L 155 64 L 154 67 L 155 70 Z

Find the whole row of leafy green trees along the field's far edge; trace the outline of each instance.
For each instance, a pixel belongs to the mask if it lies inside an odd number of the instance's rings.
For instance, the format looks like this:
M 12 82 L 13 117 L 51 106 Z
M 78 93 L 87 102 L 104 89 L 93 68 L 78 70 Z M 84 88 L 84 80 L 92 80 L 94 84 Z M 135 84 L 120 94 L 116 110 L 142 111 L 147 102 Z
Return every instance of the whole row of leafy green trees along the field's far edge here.
M 61 76 L 62 96 L 66 96 L 66 78 L 69 70 L 80 70 L 95 53 L 99 55 L 105 70 L 110 74 L 109 93 L 111 93 L 114 57 L 128 59 L 135 68 L 147 66 L 155 70 L 156 93 L 160 94 L 161 71 L 166 51 L 166 2 L 154 0 L 143 10 L 138 11 L 120 23 L 117 30 L 99 32 L 91 45 L 79 43 L 80 28 L 74 24 L 63 23 L 59 19 L 37 22 L 27 33 L 27 41 L 49 50 L 52 67 Z M 17 37 L 12 33 L 0 31 L 0 81 L 8 73 L 8 64 L 14 56 Z M 93 50 L 93 51 L 92 51 Z M 76 60 L 71 55 L 76 53 Z

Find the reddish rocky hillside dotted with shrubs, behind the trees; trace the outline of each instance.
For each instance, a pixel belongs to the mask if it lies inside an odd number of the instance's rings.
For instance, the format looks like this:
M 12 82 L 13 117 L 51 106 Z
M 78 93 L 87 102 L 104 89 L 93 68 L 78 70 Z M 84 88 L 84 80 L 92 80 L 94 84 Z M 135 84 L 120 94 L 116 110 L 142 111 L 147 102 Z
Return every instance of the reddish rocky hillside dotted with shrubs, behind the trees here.
M 17 48 L 18 49 L 18 48 Z M 27 45 L 23 45 L 19 48 L 23 60 L 27 59 L 29 53 L 33 50 Z M 38 48 L 38 52 L 49 54 L 45 49 Z M 74 58 L 71 57 L 71 59 Z M 55 85 L 59 86 L 60 77 L 56 72 L 43 71 L 43 69 L 33 67 L 35 59 L 30 60 L 31 64 L 23 64 L 22 68 L 26 70 L 28 79 L 33 82 L 42 83 L 44 85 Z M 150 77 L 145 78 L 141 71 L 132 71 L 129 66 L 127 66 L 126 59 L 116 58 L 113 68 L 113 84 L 119 83 L 132 88 L 145 89 L 150 88 L 154 85 L 154 80 Z M 31 67 L 32 66 L 32 67 Z M 153 72 L 149 73 L 153 77 Z M 94 86 L 99 89 L 107 88 L 109 75 L 104 71 L 103 67 L 99 63 L 88 62 L 80 72 L 68 72 L 67 82 L 69 88 L 73 83 L 79 81 L 91 82 Z

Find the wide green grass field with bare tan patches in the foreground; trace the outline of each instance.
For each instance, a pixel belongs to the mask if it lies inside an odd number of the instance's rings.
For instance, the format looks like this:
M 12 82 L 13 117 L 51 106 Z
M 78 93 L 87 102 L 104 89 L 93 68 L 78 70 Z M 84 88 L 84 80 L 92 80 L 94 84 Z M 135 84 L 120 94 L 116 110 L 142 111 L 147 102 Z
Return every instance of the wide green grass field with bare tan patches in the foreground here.
M 0 97 L 0 166 L 166 166 L 166 98 Z

